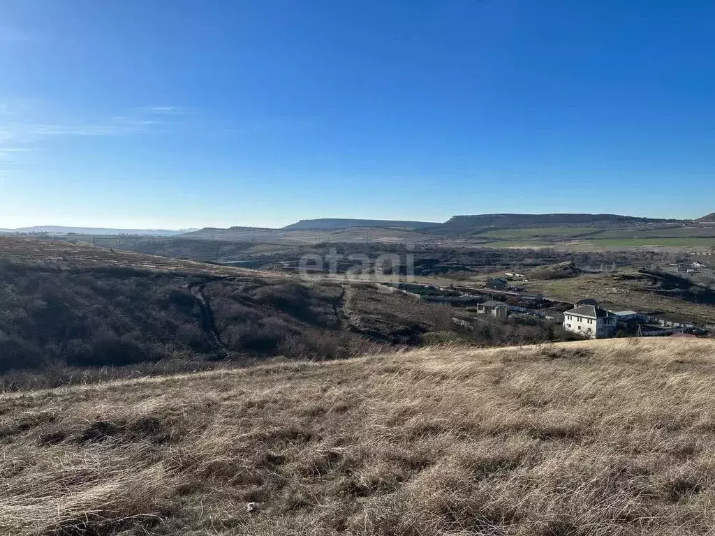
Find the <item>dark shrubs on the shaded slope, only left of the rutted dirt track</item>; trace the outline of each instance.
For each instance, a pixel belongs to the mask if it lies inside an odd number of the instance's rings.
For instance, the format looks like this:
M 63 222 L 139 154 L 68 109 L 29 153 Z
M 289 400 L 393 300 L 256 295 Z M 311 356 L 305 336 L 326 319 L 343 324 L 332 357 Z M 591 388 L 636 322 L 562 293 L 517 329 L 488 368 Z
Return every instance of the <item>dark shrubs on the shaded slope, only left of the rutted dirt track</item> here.
M 127 269 L 0 269 L 0 372 L 127 365 L 210 350 L 182 279 Z

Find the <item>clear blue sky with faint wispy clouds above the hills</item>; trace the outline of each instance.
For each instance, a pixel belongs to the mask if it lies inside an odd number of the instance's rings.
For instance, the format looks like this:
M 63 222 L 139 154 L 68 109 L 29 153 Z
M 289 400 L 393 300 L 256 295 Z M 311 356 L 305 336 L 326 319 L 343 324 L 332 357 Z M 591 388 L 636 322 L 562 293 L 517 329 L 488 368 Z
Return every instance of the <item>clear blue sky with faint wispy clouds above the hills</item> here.
M 5 0 L 0 227 L 715 211 L 715 2 Z

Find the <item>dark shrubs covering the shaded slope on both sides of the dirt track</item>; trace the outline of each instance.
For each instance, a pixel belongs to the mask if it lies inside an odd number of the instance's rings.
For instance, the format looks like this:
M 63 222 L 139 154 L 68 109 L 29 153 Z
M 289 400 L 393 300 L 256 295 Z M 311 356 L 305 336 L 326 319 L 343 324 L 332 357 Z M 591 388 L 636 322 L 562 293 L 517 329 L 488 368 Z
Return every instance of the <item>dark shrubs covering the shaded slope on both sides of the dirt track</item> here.
M 226 360 L 365 352 L 373 343 L 340 321 L 342 292 L 285 278 L 4 262 L 0 385 L 43 387 L 137 371 L 194 371 Z

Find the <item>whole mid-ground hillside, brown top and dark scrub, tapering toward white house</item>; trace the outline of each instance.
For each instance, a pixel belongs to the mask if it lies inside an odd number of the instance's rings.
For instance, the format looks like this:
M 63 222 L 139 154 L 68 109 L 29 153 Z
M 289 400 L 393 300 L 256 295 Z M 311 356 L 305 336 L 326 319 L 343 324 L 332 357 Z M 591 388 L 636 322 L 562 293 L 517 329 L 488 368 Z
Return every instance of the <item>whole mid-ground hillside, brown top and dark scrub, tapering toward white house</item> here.
M 440 337 L 468 344 L 564 339 L 540 321 L 483 317 L 374 284 L 308 283 L 65 242 L 4 239 L 0 387 L 195 371 L 222 362 L 335 359 Z M 11 259 L 9 260 L 8 259 Z

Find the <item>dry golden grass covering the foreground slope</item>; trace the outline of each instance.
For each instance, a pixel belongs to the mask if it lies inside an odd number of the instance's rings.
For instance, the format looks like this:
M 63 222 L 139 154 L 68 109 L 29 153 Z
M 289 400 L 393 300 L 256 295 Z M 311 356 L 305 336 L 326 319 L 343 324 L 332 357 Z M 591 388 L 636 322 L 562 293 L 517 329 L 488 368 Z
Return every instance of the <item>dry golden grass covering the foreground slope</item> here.
M 617 339 L 4 394 L 0 534 L 710 534 L 714 378 Z

